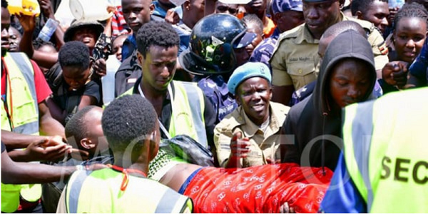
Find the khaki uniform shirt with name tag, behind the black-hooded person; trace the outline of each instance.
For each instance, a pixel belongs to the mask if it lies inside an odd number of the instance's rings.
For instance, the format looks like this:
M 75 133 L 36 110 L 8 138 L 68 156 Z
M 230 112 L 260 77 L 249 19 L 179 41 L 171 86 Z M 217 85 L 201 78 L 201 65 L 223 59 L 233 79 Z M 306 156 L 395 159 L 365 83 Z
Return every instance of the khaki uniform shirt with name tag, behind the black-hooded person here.
M 384 42 L 382 35 L 369 21 L 354 19 L 342 14 L 342 21 L 355 21 L 368 33 L 367 40 L 372 45 L 376 70 L 381 70 L 388 63 L 387 54 L 379 51 Z M 317 78 L 320 56 L 319 40 L 314 39 L 305 24 L 285 31 L 280 35 L 270 65 L 272 66 L 272 84 L 274 86 L 294 86 L 302 88 Z

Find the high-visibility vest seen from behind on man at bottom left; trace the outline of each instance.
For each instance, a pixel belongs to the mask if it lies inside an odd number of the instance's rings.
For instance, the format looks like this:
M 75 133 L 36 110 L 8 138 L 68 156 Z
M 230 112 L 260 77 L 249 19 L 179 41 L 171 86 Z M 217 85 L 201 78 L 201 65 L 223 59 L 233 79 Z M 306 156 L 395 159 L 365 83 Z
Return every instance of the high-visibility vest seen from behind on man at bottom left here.
M 67 213 L 183 213 L 192 200 L 161 183 L 128 175 L 121 190 L 121 172 L 111 168 L 78 170 L 65 188 Z

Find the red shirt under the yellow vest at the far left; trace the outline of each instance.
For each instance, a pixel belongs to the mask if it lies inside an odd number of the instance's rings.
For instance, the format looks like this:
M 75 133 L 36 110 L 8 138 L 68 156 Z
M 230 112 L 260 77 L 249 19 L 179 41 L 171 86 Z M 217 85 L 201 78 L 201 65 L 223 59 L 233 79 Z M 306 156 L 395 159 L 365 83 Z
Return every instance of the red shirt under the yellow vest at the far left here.
M 41 72 L 39 66 L 36 62 L 31 61 L 31 64 L 33 65 L 34 69 L 34 85 L 36 86 L 36 96 L 37 96 L 37 103 L 41 103 L 42 101 L 46 100 L 48 98 L 52 91 L 51 88 L 49 88 L 48 83 L 46 82 L 46 79 L 44 78 L 44 74 Z M 3 57 L 1 57 L 1 63 L 4 64 Z M 1 66 L 1 97 L 6 94 L 6 66 Z

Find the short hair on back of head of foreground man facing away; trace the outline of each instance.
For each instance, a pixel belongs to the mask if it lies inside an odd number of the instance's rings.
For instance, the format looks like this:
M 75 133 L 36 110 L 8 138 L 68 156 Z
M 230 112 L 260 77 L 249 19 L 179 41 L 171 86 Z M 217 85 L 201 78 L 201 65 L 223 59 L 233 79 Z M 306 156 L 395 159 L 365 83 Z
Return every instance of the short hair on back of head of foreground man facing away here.
M 113 153 L 124 152 L 130 143 L 141 146 L 143 138 L 155 131 L 155 108 L 140 95 L 122 96 L 104 110 L 101 123 L 104 136 Z

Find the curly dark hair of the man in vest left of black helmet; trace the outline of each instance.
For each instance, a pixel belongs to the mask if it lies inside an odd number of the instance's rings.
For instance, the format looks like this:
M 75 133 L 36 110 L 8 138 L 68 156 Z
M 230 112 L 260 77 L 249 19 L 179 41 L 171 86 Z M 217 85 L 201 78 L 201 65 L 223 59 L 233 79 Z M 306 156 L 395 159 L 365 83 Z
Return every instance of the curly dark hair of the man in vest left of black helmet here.
M 173 27 L 165 21 L 150 21 L 138 30 L 137 49 L 144 58 L 151 46 L 170 48 L 180 45 L 180 37 Z

